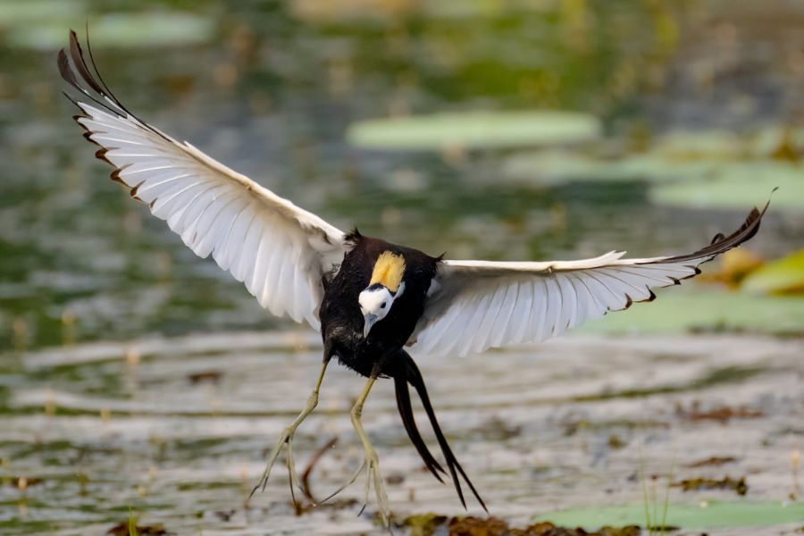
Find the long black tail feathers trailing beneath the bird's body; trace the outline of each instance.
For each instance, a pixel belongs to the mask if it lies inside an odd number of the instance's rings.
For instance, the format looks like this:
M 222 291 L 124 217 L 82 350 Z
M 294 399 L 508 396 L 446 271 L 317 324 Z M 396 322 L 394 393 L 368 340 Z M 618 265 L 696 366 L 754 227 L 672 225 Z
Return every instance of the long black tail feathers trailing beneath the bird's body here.
M 430 402 L 430 396 L 427 394 L 427 388 L 424 386 L 424 379 L 423 379 L 422 373 L 419 372 L 419 367 L 416 366 L 415 361 L 413 360 L 413 358 L 411 356 L 409 356 L 407 354 L 407 352 L 402 351 L 402 352 L 400 352 L 400 354 L 401 354 L 401 356 L 400 356 L 401 357 L 401 363 L 398 362 L 398 364 L 399 364 L 398 371 L 399 372 L 394 375 L 395 385 L 397 386 L 397 405 L 400 407 L 400 410 L 399 410 L 400 415 L 402 415 L 401 406 L 406 406 L 406 411 L 410 411 L 409 421 L 411 423 L 413 423 L 413 412 L 412 412 L 412 410 L 409 410 L 409 408 L 410 408 L 410 396 L 407 393 L 407 389 L 400 389 L 399 383 L 398 383 L 398 381 L 402 380 L 402 378 L 398 378 L 398 377 L 401 376 L 402 374 L 404 374 L 404 378 L 406 379 L 406 381 L 408 383 L 410 383 L 410 385 L 413 386 L 414 389 L 416 389 L 416 392 L 419 394 L 419 398 L 421 398 L 421 400 L 422 400 L 422 406 L 424 407 L 424 412 L 427 414 L 427 417 L 430 419 L 430 424 L 432 426 L 432 431 L 433 431 L 433 433 L 435 433 L 436 440 L 438 440 L 439 446 L 441 448 L 441 453 L 444 455 L 444 459 L 447 462 L 447 467 L 448 467 L 450 476 L 452 477 L 452 483 L 455 486 L 455 490 L 457 492 L 458 498 L 460 498 L 460 500 L 461 500 L 461 505 L 463 505 L 463 507 L 466 507 L 466 501 L 465 501 L 465 498 L 464 498 L 464 491 L 461 489 L 461 482 L 458 479 L 458 473 L 460 474 L 461 477 L 463 477 L 464 482 L 466 482 L 466 485 L 469 486 L 469 489 L 472 490 L 472 493 L 473 493 L 474 497 L 477 498 L 477 501 L 480 503 L 480 505 L 483 508 L 483 510 L 485 510 L 486 513 L 488 513 L 489 509 L 486 507 L 486 503 L 483 501 L 483 499 L 481 498 L 481 496 L 478 493 L 478 491 L 474 488 L 474 484 L 472 483 L 472 481 L 469 480 L 469 477 L 466 475 L 466 473 L 464 471 L 464 468 L 460 465 L 460 463 L 458 463 L 458 461 L 457 461 L 457 459 L 455 457 L 455 454 L 453 454 L 453 452 L 452 452 L 452 448 L 449 448 L 449 443 L 447 442 L 447 438 L 444 437 L 444 433 L 441 431 L 439 421 L 436 418 L 435 411 L 433 411 L 433 409 L 432 409 L 432 405 L 431 405 L 431 402 Z M 405 391 L 405 394 L 402 395 L 403 396 L 402 401 L 400 401 L 400 398 L 399 398 L 401 390 Z M 406 399 L 407 399 L 406 405 L 404 404 L 404 397 L 406 397 Z M 407 417 L 405 415 L 402 415 L 403 423 L 406 422 L 406 418 Z M 427 450 L 427 446 L 424 445 L 424 442 L 422 440 L 421 435 L 419 435 L 418 430 L 415 428 L 415 423 L 413 424 L 412 429 L 408 428 L 408 423 L 406 423 L 406 430 L 407 430 L 408 436 L 414 442 L 414 445 L 416 446 L 416 449 L 419 451 L 419 454 L 423 457 L 424 464 L 428 466 L 428 468 L 431 470 L 431 472 L 433 474 L 435 474 L 435 471 L 431 468 L 430 463 L 428 462 L 428 458 L 432 460 L 432 456 L 430 454 L 430 451 Z M 415 433 L 411 434 L 411 430 L 414 430 Z M 426 455 L 423 454 L 423 451 L 426 452 Z M 432 460 L 432 461 L 434 461 L 434 460 Z M 436 478 L 438 478 L 438 475 L 436 475 Z M 439 478 L 439 480 L 441 480 L 441 479 Z

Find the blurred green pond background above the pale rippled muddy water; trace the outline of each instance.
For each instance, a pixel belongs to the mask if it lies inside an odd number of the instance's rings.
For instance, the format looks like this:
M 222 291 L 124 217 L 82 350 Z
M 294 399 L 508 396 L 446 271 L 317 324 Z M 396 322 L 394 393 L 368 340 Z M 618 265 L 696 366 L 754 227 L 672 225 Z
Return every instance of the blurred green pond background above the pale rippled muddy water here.
M 772 259 L 804 246 L 802 18 L 783 1 L 2 2 L 0 349 L 281 325 L 105 180 L 61 95 L 68 28 L 89 22 L 131 109 L 342 229 L 452 257 L 663 255 L 779 186 L 748 246 Z

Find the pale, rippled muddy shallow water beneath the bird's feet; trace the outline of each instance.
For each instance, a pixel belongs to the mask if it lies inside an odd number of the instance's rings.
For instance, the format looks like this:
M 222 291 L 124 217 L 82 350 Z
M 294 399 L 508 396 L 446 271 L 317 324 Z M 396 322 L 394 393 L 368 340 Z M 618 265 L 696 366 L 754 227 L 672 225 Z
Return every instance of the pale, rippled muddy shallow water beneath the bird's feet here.
M 566 507 L 640 502 L 641 465 L 660 497 L 668 476 L 744 477 L 748 485 L 745 497 L 674 487 L 672 504 L 787 500 L 791 455 L 804 434 L 802 355 L 800 339 L 576 336 L 457 364 L 420 363 L 456 456 L 491 513 L 523 526 Z M 265 449 L 312 386 L 314 334 L 205 334 L 15 358 L 19 372 L 0 376 L 4 534 L 104 533 L 130 513 L 180 534 L 386 533 L 373 523 L 373 502 L 356 515 L 362 479 L 332 506 L 296 515 L 278 466 L 244 507 Z M 338 438 L 310 477 L 318 497 L 361 460 L 348 407 L 362 382 L 331 367 L 319 409 L 298 431 L 299 470 Z M 465 513 L 408 443 L 389 381 L 373 391 L 364 421 L 398 520 Z M 733 460 L 690 466 L 713 456 Z

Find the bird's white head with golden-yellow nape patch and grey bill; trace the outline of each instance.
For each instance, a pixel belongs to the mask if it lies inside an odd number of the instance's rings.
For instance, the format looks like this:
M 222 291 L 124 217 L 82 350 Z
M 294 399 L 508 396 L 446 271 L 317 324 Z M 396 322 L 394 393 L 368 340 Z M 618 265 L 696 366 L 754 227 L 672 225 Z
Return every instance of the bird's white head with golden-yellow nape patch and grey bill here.
M 389 313 L 394 301 L 405 291 L 402 276 L 405 273 L 405 258 L 389 251 L 382 253 L 374 263 L 372 280 L 360 293 L 357 301 L 363 314 L 363 337 L 368 337 L 372 326 Z

